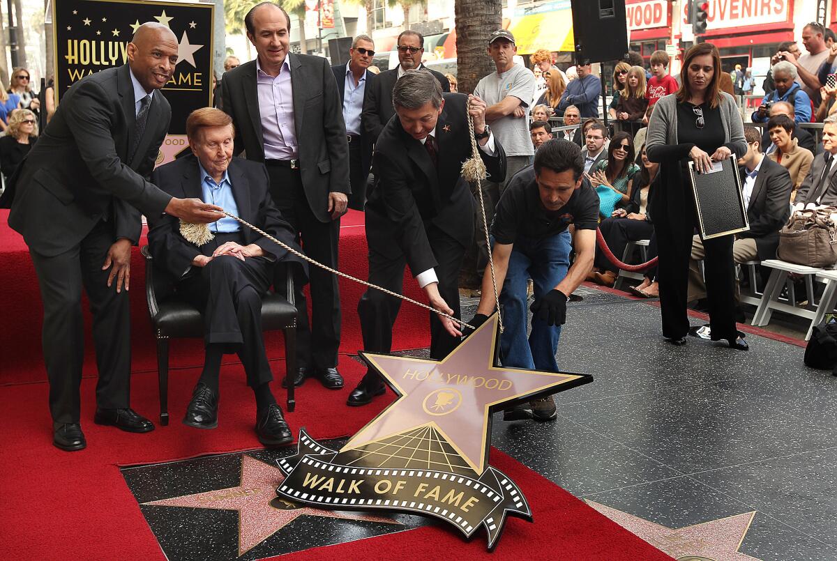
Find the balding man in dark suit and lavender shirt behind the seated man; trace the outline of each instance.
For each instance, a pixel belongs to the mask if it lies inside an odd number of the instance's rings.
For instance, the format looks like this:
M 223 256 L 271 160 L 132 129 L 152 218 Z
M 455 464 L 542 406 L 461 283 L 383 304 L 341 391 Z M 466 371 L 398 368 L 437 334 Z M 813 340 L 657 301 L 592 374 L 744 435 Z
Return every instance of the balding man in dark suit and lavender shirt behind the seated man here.
M 340 217 L 346 212 L 349 150 L 342 104 L 326 59 L 290 54 L 290 18 L 275 3 L 264 2 L 244 18 L 247 38 L 258 58 L 224 74 L 223 110 L 233 117 L 235 154 L 263 161 L 270 196 L 295 228 L 311 257 L 337 268 Z M 304 133 L 304 134 L 303 134 Z M 277 268 L 275 289 L 282 291 L 284 268 Z M 295 294 L 299 309 L 297 348 L 300 370 L 285 384 L 318 378 L 326 388 L 343 387 L 336 370 L 340 346 L 340 295 L 337 278 L 312 267 L 311 323 L 305 295 Z

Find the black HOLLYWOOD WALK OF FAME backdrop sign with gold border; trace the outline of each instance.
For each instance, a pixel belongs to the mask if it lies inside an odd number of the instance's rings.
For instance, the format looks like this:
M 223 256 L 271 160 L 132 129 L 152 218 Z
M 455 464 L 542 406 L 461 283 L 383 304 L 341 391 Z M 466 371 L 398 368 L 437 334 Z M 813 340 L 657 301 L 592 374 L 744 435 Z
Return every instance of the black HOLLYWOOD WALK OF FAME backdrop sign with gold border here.
M 163 94 L 172 105 L 170 135 L 186 134 L 186 118 L 210 105 L 213 11 L 209 3 L 54 0 L 55 91 L 128 61 L 128 43 L 142 23 L 159 22 L 177 37 L 177 65 Z

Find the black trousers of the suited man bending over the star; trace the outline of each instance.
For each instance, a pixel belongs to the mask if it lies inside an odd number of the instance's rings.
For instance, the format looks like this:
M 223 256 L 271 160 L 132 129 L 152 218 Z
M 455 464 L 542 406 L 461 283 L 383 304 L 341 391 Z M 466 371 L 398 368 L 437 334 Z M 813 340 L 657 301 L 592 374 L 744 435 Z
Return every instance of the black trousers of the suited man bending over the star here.
M 368 220 L 368 215 L 367 215 Z M 368 231 L 367 231 L 368 232 Z M 454 317 L 460 318 L 460 291 L 458 286 L 459 272 L 462 259 L 465 257 L 465 247 L 453 237 L 429 227 L 427 237 L 430 247 L 439 265 L 436 266 L 436 276 L 439 278 L 439 294 L 454 310 Z M 369 244 L 369 282 L 377 286 L 388 288 L 395 293 L 403 293 L 403 278 L 406 259 L 403 254 L 393 258 L 391 252 L 382 252 L 378 246 L 382 241 L 370 237 Z M 391 240 L 383 240 L 383 244 L 391 247 Z M 385 254 L 386 253 L 386 254 Z M 414 274 L 421 271 L 413 271 Z M 412 304 L 408 304 L 412 305 Z M 393 346 L 393 325 L 401 308 L 401 300 L 389 296 L 375 288 L 367 288 L 360 302 L 357 303 L 357 315 L 361 319 L 363 335 L 363 349 L 371 353 L 388 353 Z M 444 330 L 439 316 L 429 312 L 430 316 L 430 358 L 441 360 L 451 350 L 460 344 L 460 339 L 452 337 Z

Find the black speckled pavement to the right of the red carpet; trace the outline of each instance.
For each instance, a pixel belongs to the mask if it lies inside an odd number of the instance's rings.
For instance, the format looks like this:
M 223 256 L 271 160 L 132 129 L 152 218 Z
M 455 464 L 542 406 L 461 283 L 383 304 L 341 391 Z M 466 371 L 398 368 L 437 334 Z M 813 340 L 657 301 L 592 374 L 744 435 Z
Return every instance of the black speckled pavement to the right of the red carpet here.
M 691 531 L 718 542 L 709 549 L 723 548 L 727 521 L 705 523 L 755 512 L 738 553 L 706 558 L 837 558 L 837 378 L 806 368 L 801 347 L 752 334 L 747 352 L 674 347 L 651 303 L 578 293 L 558 365 L 595 381 L 556 395 L 557 421 L 498 415 L 492 444 L 620 519 L 702 524 Z M 463 301 L 465 319 L 474 304 Z

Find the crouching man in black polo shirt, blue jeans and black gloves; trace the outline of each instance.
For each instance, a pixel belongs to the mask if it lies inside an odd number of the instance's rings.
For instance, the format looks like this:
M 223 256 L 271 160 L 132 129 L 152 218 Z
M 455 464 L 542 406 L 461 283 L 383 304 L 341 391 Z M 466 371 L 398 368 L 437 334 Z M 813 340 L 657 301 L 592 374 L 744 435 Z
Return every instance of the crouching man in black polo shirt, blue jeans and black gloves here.
M 557 372 L 555 360 L 567 296 L 593 268 L 598 226 L 598 195 L 584 179 L 584 158 L 569 140 L 547 140 L 533 166 L 514 176 L 497 204 L 491 225 L 497 289 L 501 290 L 504 366 Z M 574 239 L 567 227 L 574 224 Z M 571 247 L 575 260 L 569 266 Z M 569 270 L 567 271 L 567 268 Z M 531 335 L 526 338 L 526 280 L 535 285 Z M 490 268 L 485 269 L 482 298 L 471 325 L 479 327 L 494 312 Z M 506 421 L 557 417 L 552 397 L 506 411 Z

